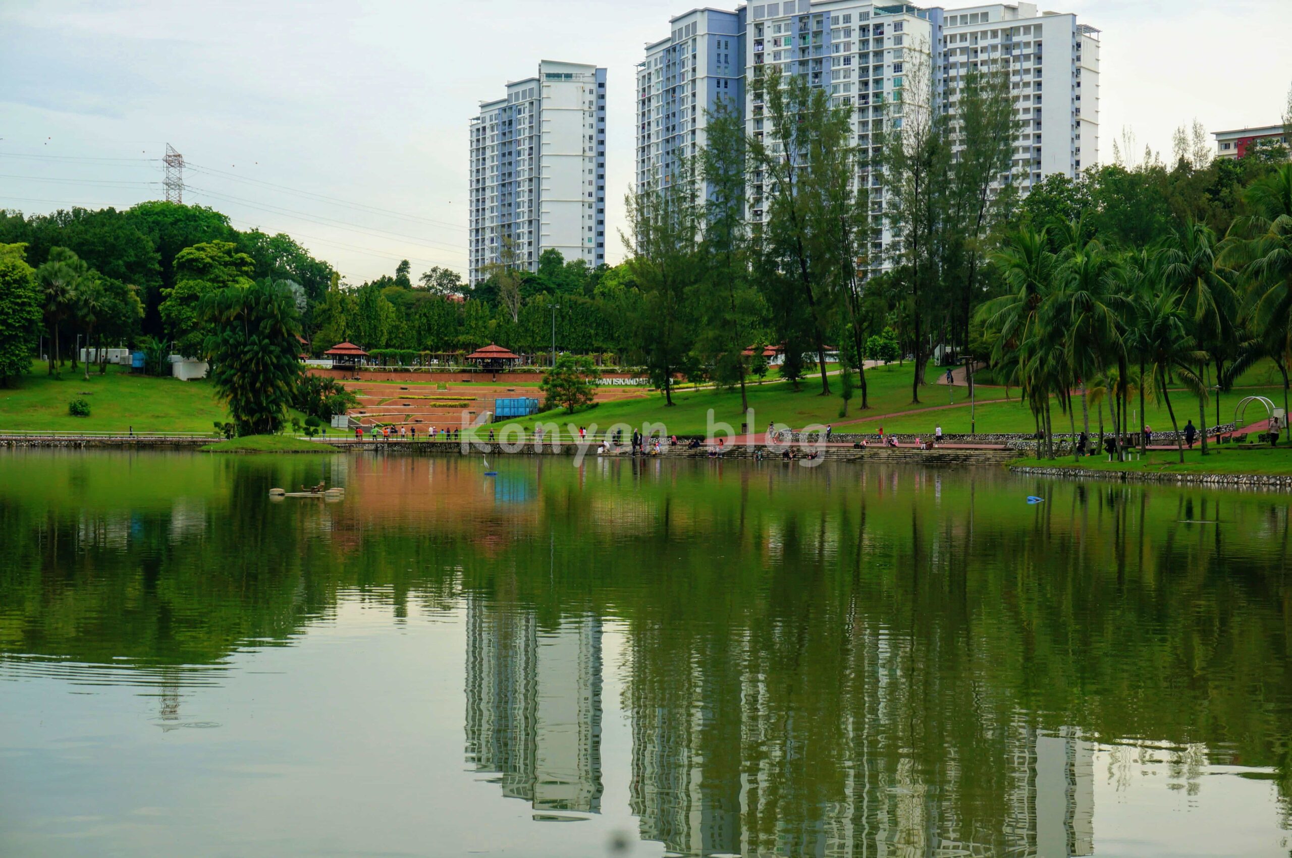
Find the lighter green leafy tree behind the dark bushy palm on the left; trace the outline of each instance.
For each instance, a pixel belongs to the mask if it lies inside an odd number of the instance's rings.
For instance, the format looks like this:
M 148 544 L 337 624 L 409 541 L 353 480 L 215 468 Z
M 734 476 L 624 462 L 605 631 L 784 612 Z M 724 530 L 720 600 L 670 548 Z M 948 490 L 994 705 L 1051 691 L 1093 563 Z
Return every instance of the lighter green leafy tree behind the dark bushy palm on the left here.
M 203 298 L 227 287 L 247 288 L 255 265 L 233 242 L 203 242 L 176 255 L 174 287 L 162 289 L 164 300 L 158 311 L 180 354 L 186 358 L 202 354 Z

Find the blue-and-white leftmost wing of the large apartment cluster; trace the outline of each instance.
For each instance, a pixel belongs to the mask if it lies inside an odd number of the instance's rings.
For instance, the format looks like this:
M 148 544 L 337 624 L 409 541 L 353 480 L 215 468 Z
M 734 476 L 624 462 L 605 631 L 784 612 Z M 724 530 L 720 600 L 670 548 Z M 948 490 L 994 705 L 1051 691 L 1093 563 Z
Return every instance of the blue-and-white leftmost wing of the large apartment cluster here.
M 637 65 L 637 190 L 669 186 L 678 155 L 705 143 L 712 112 L 744 111 L 745 10 L 693 9 L 669 21 L 672 32 L 646 45 Z

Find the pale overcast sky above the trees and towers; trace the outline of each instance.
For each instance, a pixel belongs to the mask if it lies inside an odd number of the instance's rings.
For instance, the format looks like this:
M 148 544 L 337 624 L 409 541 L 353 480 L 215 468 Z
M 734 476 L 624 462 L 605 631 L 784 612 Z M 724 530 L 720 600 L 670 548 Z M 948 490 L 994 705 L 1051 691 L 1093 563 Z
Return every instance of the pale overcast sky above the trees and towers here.
M 403 257 L 415 274 L 437 264 L 465 273 L 466 127 L 477 102 L 535 74 L 539 59 L 566 59 L 610 70 L 615 262 L 634 66 L 646 41 L 668 34 L 669 17 L 694 5 L 0 0 L 0 207 L 160 198 L 160 163 L 142 159 L 159 159 L 171 142 L 193 165 L 185 202 L 213 205 L 239 227 L 289 233 L 351 283 Z M 1102 30 L 1101 160 L 1124 125 L 1165 158 L 1172 129 L 1195 118 L 1209 131 L 1280 119 L 1292 0 L 1041 8 Z

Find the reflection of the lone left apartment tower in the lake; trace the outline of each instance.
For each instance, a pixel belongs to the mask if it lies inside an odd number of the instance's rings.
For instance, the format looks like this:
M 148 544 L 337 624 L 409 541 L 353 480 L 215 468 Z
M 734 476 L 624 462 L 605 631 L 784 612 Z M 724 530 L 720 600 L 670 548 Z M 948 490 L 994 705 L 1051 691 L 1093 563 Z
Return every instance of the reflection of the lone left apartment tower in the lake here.
M 535 810 L 601 810 L 601 619 L 540 631 L 532 610 L 466 601 L 466 761 Z

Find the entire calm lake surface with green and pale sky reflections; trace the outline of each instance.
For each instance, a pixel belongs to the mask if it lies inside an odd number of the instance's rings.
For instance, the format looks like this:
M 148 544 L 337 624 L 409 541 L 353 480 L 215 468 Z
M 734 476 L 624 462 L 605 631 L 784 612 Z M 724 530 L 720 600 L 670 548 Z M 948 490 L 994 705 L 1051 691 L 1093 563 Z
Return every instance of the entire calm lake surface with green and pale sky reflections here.
M 1292 849 L 1286 496 L 496 466 L 0 454 L 0 855 Z

